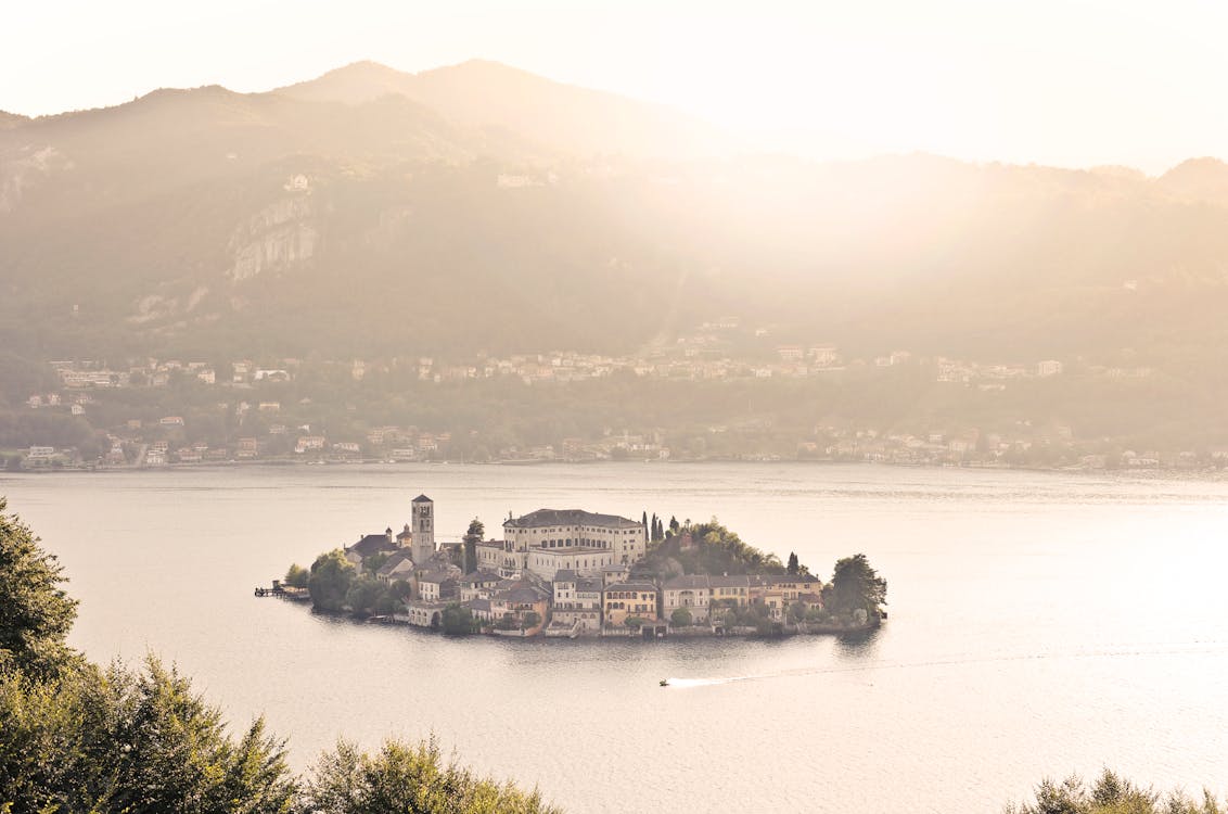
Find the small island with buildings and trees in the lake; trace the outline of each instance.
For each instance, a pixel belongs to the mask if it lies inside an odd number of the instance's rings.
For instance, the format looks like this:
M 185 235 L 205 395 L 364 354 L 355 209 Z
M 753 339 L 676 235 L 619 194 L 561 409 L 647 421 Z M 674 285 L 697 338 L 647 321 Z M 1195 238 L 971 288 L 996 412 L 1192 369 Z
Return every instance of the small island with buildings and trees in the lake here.
M 796 554 L 781 562 L 716 518 L 553 508 L 510 514 L 501 540 L 485 539 L 474 518 L 459 541 L 437 543 L 425 495 L 400 533 L 389 527 L 311 568 L 292 565 L 285 586 L 318 610 L 453 635 L 782 636 L 867 630 L 887 615 L 887 581 L 862 554 L 837 561 L 824 583 Z

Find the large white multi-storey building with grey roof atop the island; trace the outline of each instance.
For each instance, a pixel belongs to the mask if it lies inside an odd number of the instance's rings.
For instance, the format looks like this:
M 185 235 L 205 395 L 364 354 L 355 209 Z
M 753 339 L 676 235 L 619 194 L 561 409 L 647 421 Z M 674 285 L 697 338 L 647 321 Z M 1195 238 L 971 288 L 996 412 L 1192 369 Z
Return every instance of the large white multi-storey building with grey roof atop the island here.
M 612 565 L 643 559 L 648 538 L 636 521 L 578 508 L 539 508 L 503 523 L 502 541 L 478 546 L 478 567 L 518 578 L 524 571 L 554 581 L 559 571 L 600 576 Z

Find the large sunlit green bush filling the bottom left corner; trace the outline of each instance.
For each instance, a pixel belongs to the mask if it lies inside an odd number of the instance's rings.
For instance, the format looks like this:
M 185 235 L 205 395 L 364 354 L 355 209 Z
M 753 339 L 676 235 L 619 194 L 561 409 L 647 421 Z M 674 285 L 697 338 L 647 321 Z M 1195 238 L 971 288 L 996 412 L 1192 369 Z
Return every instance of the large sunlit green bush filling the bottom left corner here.
M 48 681 L 0 678 L 0 796 L 15 810 L 293 810 L 284 743 L 257 719 L 238 742 L 187 678 L 90 667 Z

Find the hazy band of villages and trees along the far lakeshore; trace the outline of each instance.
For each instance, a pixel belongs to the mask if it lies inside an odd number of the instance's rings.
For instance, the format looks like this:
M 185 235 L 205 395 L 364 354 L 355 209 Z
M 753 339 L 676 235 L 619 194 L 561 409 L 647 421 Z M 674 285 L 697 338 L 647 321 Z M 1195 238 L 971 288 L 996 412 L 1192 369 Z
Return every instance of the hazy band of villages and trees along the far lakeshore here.
M 837 460 L 907 465 L 1060 467 L 1081 469 L 1222 469 L 1228 446 L 1168 446 L 1158 438 L 1103 435 L 1050 410 L 1019 410 L 1054 393 L 1160 387 L 1146 366 L 1077 360 L 979 363 L 893 351 L 852 356 L 831 344 L 779 344 L 766 328 L 743 329 L 734 317 L 704 323 L 673 346 L 625 356 L 575 351 L 480 356 L 464 363 L 436 357 L 262 362 L 129 360 L 59 361 L 23 390 L 0 420 L 0 455 L 9 469 L 162 468 L 237 462 L 591 462 L 591 460 Z M 677 410 L 624 415 L 571 426 L 528 417 L 567 389 L 599 414 L 612 398 L 678 400 L 704 388 L 706 415 Z M 804 392 L 797 388 L 806 388 Z M 824 408 L 865 400 L 884 389 L 899 403 L 950 404 L 943 414 L 873 414 Z M 732 390 L 743 394 L 732 397 Z M 1163 390 L 1164 388 L 1160 388 Z M 406 394 L 420 422 L 389 422 Z M 449 420 L 492 393 L 515 394 L 521 416 Z M 814 403 L 809 415 L 797 404 Z M 920 403 L 920 401 L 919 401 Z M 375 405 L 373 408 L 360 405 Z M 738 409 L 734 409 L 738 408 Z M 1071 413 L 1078 405 L 1070 408 Z M 931 408 L 932 410 L 932 408 Z M 960 417 L 966 413 L 968 417 Z M 975 419 L 973 416 L 976 416 Z M 511 421 L 506 419 L 511 417 Z

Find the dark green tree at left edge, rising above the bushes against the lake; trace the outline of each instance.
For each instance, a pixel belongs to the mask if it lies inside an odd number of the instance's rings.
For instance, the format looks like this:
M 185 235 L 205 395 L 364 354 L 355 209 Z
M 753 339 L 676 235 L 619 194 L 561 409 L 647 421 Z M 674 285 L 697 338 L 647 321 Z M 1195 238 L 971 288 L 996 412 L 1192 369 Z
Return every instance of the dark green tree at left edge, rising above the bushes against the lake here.
M 60 587 L 68 579 L 55 555 L 5 513 L 7 505 L 0 497 L 0 668 L 10 663 L 31 678 L 50 676 L 80 663 L 65 645 L 77 603 Z

